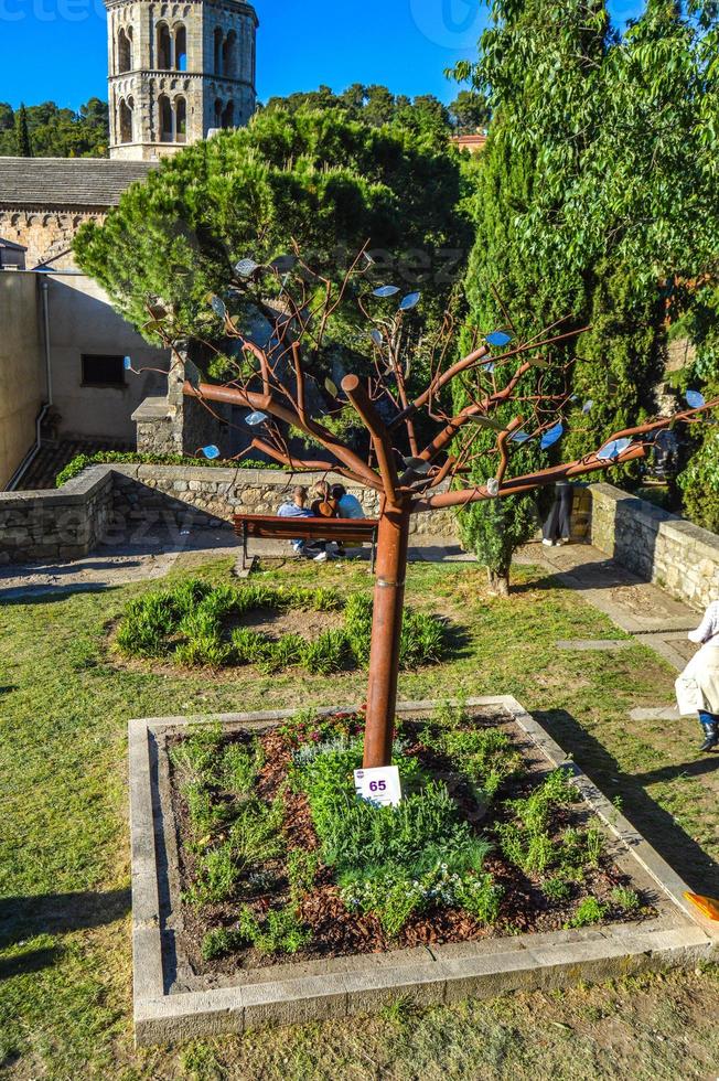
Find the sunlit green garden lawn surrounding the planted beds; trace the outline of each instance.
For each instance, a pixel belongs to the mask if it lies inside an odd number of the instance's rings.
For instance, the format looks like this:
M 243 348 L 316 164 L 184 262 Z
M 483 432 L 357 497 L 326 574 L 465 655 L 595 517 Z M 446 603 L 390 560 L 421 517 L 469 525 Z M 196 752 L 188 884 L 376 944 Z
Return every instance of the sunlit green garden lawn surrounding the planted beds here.
M 229 580 L 227 560 L 200 571 Z M 297 565 L 268 580 L 369 589 L 361 565 Z M 474 566 L 416 565 L 408 601 L 454 623 L 444 664 L 406 672 L 405 698 L 513 694 L 690 884 L 719 896 L 719 757 L 698 726 L 629 720 L 669 702 L 673 672 L 638 644 L 570 653 L 558 640 L 622 638 L 529 568 L 509 600 Z M 168 585 L 176 585 L 175 574 Z M 261 580 L 261 577 L 260 577 Z M 0 608 L 0 1074 L 17 1078 L 709 1078 L 719 981 L 709 967 L 566 994 L 514 996 L 346 1025 L 136 1051 L 131 1028 L 127 720 L 364 697 L 362 671 L 215 679 L 117 665 L 108 632 L 150 586 Z

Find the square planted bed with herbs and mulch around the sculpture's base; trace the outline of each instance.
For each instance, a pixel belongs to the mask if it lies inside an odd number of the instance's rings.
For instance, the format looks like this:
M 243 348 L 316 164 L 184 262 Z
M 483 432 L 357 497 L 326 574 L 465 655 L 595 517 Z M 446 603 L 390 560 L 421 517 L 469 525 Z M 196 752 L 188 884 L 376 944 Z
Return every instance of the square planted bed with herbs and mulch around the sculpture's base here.
M 506 718 L 403 723 L 400 806 L 354 793 L 362 721 L 174 737 L 182 950 L 198 974 L 651 914 L 562 771 Z

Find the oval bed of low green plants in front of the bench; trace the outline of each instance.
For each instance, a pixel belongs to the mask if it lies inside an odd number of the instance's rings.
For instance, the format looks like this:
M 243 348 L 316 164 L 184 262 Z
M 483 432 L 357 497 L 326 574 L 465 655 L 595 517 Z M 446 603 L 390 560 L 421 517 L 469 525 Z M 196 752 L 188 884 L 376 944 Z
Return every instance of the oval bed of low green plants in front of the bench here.
M 254 664 L 271 673 L 299 666 L 329 675 L 368 664 L 372 611 L 365 593 L 345 599 L 323 587 L 212 586 L 191 578 L 128 604 L 115 647 L 126 657 L 184 667 Z M 334 625 L 320 625 L 315 636 L 307 638 L 307 612 L 321 613 Z M 264 620 L 258 621 L 258 613 Z M 278 634 L 277 617 L 287 613 L 299 618 L 291 631 Z M 250 618 L 255 625 L 248 625 Z M 446 650 L 444 621 L 423 612 L 405 613 L 403 668 L 437 663 Z

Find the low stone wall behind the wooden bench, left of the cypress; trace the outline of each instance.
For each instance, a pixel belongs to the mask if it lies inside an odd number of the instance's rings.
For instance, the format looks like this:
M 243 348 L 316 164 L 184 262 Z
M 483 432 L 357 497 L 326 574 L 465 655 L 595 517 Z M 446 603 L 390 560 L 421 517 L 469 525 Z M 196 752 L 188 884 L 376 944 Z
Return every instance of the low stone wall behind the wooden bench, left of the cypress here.
M 202 465 L 94 465 L 62 489 L 0 493 L 0 564 L 86 556 L 98 543 L 139 544 L 155 525 L 192 531 L 232 527 L 233 515 L 276 514 L 296 484 L 311 488 L 321 473 Z M 330 483 L 346 483 L 335 474 Z M 378 496 L 346 483 L 368 517 Z M 451 511 L 419 514 L 412 533 L 454 540 Z

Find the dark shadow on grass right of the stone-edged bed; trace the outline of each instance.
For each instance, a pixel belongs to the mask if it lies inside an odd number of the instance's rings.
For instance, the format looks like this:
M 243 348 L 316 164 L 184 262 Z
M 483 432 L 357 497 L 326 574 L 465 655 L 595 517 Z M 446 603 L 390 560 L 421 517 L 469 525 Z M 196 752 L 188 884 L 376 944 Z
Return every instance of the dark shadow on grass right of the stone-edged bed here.
M 621 796 L 622 813 L 693 890 L 719 895 L 719 865 L 645 791 L 648 784 L 676 780 L 683 774 L 698 777 L 710 772 L 719 767 L 719 756 L 646 773 L 624 773 L 616 759 L 571 714 L 552 709 L 535 711 L 533 716 L 605 796 Z

